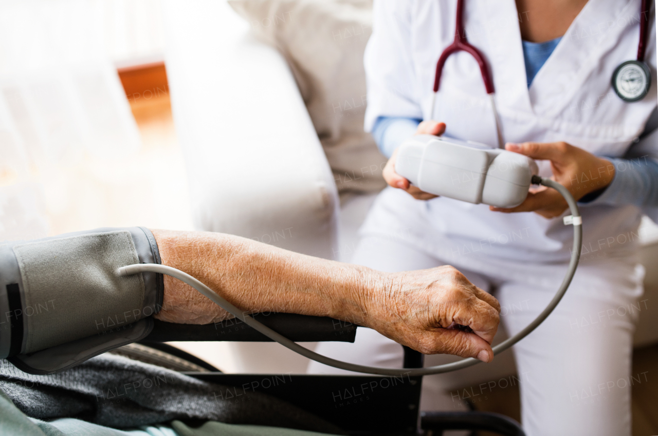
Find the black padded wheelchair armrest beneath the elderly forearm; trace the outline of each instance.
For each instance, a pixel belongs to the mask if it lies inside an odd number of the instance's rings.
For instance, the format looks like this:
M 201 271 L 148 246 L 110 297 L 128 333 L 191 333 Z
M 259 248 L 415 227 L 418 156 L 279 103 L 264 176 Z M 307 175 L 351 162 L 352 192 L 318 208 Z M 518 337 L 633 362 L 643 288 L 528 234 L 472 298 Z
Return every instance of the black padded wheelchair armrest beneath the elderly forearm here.
M 253 317 L 295 342 L 354 342 L 357 326 L 326 316 L 286 313 L 255 314 Z M 272 339 L 238 319 L 215 324 L 175 324 L 153 320 L 155 325 L 140 342 L 236 341 L 272 342 Z

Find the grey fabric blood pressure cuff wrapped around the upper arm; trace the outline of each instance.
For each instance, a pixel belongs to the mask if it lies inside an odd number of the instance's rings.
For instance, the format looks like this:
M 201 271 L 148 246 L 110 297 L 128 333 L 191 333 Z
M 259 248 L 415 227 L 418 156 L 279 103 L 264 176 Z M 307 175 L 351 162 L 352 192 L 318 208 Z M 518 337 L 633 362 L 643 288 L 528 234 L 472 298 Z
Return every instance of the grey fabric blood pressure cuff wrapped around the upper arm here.
M 0 358 L 50 374 L 146 337 L 164 285 L 161 274 L 116 275 L 138 263 L 161 263 L 141 227 L 0 244 Z

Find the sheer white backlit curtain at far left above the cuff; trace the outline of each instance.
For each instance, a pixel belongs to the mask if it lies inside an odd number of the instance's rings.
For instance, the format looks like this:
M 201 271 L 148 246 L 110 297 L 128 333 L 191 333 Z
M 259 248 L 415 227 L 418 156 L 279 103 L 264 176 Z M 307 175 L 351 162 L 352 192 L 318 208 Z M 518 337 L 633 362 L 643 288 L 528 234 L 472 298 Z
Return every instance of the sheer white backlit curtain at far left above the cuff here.
M 121 221 L 141 140 L 116 66 L 161 59 L 159 9 L 0 0 L 0 241 Z

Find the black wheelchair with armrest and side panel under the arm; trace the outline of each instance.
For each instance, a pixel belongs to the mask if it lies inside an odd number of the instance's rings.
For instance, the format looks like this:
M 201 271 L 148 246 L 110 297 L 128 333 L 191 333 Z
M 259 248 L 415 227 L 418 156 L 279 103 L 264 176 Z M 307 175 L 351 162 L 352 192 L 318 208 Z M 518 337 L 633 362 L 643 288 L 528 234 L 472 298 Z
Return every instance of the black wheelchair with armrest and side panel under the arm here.
M 295 342 L 355 341 L 357 327 L 332 318 L 299 314 L 256 314 L 254 318 Z M 420 412 L 422 377 L 379 375 L 224 374 L 169 341 L 271 342 L 240 320 L 203 326 L 155 320 L 153 331 L 117 354 L 177 370 L 197 379 L 285 400 L 354 436 L 440 436 L 446 430 L 491 431 L 524 436 L 519 423 L 491 412 Z M 404 349 L 404 368 L 422 368 L 424 356 Z

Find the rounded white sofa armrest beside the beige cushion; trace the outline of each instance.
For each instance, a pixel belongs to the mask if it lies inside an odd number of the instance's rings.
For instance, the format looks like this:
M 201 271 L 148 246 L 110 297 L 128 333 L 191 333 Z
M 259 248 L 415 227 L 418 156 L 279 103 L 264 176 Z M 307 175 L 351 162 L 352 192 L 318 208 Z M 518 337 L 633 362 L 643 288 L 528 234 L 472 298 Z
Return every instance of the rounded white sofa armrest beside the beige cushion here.
M 224 1 L 165 4 L 195 227 L 333 258 L 338 193 L 288 64 Z

